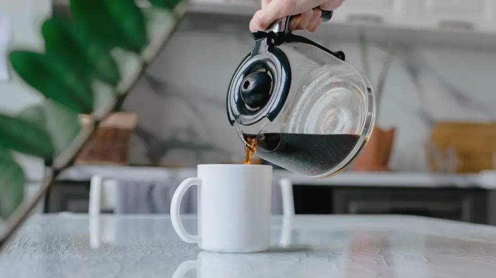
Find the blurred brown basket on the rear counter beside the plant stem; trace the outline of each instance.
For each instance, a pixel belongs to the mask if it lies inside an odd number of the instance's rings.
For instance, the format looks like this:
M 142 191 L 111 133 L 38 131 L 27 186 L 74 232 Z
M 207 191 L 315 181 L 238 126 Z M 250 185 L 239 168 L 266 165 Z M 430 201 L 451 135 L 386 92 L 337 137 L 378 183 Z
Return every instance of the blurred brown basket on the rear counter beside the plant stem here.
M 82 128 L 89 126 L 93 118 L 79 115 Z M 78 165 L 128 165 L 129 143 L 136 127 L 137 116 L 131 113 L 110 114 L 100 123 L 98 130 L 83 147 L 75 164 Z

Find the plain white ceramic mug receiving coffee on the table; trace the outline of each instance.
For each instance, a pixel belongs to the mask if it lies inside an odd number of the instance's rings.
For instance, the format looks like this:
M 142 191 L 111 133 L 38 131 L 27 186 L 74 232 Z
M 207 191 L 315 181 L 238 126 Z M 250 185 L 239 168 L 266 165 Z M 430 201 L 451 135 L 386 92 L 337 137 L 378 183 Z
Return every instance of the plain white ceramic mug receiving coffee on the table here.
M 184 228 L 179 208 L 186 190 L 197 185 L 198 235 Z M 198 165 L 197 177 L 183 181 L 171 202 L 179 237 L 215 252 L 259 252 L 269 248 L 272 166 Z

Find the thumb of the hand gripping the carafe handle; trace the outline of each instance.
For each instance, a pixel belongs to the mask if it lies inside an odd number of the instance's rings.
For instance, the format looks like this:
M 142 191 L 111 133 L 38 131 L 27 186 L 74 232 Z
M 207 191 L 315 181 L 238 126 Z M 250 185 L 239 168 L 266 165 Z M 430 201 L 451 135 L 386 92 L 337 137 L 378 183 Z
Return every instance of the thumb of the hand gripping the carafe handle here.
M 265 31 L 278 18 L 290 15 L 295 2 L 294 0 L 271 0 L 266 3 L 253 15 L 249 23 L 250 31 Z

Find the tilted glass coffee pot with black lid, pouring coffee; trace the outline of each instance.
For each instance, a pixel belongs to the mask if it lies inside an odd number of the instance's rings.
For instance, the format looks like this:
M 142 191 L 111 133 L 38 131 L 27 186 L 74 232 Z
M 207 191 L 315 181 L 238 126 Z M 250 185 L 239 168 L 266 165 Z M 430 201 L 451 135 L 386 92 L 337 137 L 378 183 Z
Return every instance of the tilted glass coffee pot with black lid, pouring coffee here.
M 322 20 L 332 11 L 322 11 Z M 252 32 L 255 45 L 229 84 L 227 114 L 255 155 L 314 178 L 332 176 L 360 155 L 372 133 L 369 79 L 332 52 L 288 30 L 291 16 Z M 322 28 L 322 27 L 321 27 Z

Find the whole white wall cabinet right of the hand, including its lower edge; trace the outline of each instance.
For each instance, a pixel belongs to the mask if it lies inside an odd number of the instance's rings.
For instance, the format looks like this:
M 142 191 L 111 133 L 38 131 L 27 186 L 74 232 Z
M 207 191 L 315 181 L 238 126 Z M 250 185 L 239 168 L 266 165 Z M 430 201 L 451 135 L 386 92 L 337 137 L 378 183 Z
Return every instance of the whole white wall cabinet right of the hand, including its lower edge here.
M 369 27 L 380 40 L 494 47 L 496 0 L 347 0 L 325 25 L 330 36 L 356 37 Z

